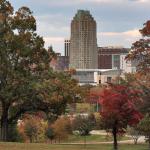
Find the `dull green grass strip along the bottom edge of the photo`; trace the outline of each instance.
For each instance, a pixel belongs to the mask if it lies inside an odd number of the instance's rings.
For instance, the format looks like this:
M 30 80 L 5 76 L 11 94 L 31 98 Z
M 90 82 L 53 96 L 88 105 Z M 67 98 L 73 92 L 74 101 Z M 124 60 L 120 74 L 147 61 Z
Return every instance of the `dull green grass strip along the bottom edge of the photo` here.
M 112 150 L 112 145 L 50 145 L 0 143 L 0 150 Z M 119 145 L 119 150 L 148 150 L 147 145 Z

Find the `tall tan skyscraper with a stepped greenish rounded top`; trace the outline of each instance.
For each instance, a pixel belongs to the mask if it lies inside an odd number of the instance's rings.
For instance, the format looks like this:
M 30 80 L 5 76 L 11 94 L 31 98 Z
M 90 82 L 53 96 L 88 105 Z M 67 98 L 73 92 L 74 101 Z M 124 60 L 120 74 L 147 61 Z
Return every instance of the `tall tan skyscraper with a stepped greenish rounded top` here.
M 98 68 L 96 34 L 96 21 L 90 12 L 78 10 L 71 22 L 70 68 Z

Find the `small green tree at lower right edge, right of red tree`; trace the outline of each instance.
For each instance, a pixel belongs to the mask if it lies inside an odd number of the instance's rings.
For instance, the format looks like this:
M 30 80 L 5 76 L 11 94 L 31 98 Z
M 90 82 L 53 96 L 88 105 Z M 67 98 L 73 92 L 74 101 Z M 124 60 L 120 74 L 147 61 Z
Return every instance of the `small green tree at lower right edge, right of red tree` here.
M 150 114 L 146 114 L 145 117 L 140 121 L 138 124 L 138 129 L 147 138 L 150 149 Z

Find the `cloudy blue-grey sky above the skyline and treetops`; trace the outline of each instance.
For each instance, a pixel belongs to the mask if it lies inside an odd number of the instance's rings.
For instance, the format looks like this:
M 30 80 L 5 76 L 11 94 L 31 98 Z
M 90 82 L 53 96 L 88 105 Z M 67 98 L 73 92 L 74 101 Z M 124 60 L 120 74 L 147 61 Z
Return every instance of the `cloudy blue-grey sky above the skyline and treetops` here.
M 90 10 L 97 22 L 99 46 L 130 47 L 141 37 L 139 29 L 150 20 L 150 0 L 10 0 L 15 10 L 28 6 L 37 20 L 45 46 L 64 53 L 70 23 L 78 9 Z

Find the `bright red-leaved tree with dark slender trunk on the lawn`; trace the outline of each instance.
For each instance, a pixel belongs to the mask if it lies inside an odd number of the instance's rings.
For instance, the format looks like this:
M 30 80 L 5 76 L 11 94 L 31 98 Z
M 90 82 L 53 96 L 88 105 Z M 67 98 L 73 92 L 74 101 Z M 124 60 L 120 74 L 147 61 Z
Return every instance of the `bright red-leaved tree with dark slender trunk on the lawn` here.
M 142 114 L 136 109 L 140 92 L 122 85 L 112 85 L 99 93 L 101 118 L 104 128 L 112 132 L 114 149 L 118 149 L 117 134 L 124 133 L 127 125 L 136 125 Z

